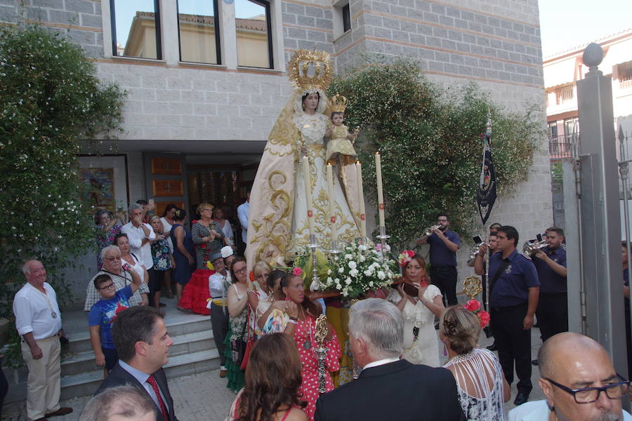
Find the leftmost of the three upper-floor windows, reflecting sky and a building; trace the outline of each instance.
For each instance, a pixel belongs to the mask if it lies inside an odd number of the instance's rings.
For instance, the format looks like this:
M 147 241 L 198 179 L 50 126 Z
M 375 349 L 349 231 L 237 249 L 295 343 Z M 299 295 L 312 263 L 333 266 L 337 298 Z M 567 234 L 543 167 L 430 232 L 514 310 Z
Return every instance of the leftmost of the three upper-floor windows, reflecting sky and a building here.
M 158 0 L 111 0 L 112 55 L 162 58 Z

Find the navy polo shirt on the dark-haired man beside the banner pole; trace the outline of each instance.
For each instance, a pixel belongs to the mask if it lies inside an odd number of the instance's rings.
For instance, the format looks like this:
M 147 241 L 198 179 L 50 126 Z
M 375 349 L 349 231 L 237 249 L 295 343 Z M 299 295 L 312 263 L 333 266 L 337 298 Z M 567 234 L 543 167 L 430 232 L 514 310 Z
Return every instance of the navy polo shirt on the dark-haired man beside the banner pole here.
M 489 258 L 489 282 L 494 279 L 502 262 L 503 253 L 499 252 Z M 489 301 L 492 307 L 512 307 L 524 304 L 529 298 L 529 288 L 539 286 L 538 274 L 533 262 L 513 250 L 508 255 L 509 265 L 500 274 Z

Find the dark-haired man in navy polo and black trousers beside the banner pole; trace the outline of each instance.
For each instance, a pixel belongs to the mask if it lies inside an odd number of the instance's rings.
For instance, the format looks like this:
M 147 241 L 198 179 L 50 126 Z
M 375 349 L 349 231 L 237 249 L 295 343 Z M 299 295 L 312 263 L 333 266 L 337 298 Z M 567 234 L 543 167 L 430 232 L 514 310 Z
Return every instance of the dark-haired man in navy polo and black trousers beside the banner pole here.
M 507 382 L 513 382 L 513 366 L 518 374 L 518 394 L 515 405 L 529 399 L 531 384 L 531 328 L 538 307 L 540 283 L 533 262 L 518 253 L 518 231 L 504 225 L 496 236 L 496 253 L 489 258 L 489 305 L 492 315 L 492 330 L 498 357 Z M 484 274 L 483 258 L 487 246 L 481 246 L 476 256 L 474 270 Z

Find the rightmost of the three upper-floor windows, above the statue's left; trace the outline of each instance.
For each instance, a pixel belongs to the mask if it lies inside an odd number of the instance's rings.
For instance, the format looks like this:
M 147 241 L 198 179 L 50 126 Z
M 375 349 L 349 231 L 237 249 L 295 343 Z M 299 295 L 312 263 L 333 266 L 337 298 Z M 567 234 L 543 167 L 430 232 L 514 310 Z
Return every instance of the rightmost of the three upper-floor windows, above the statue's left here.
M 272 69 L 270 2 L 235 0 L 237 65 Z

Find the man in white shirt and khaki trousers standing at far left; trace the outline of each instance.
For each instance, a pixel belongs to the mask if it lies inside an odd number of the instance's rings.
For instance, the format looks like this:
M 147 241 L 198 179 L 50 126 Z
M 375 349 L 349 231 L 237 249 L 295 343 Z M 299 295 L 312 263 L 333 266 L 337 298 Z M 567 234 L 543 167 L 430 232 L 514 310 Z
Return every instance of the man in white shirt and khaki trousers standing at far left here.
M 72 413 L 72 408 L 59 406 L 61 314 L 55 290 L 46 282 L 44 265 L 28 260 L 22 272 L 27 283 L 13 298 L 13 314 L 22 336 L 22 358 L 29 368 L 27 419 L 41 421 Z

